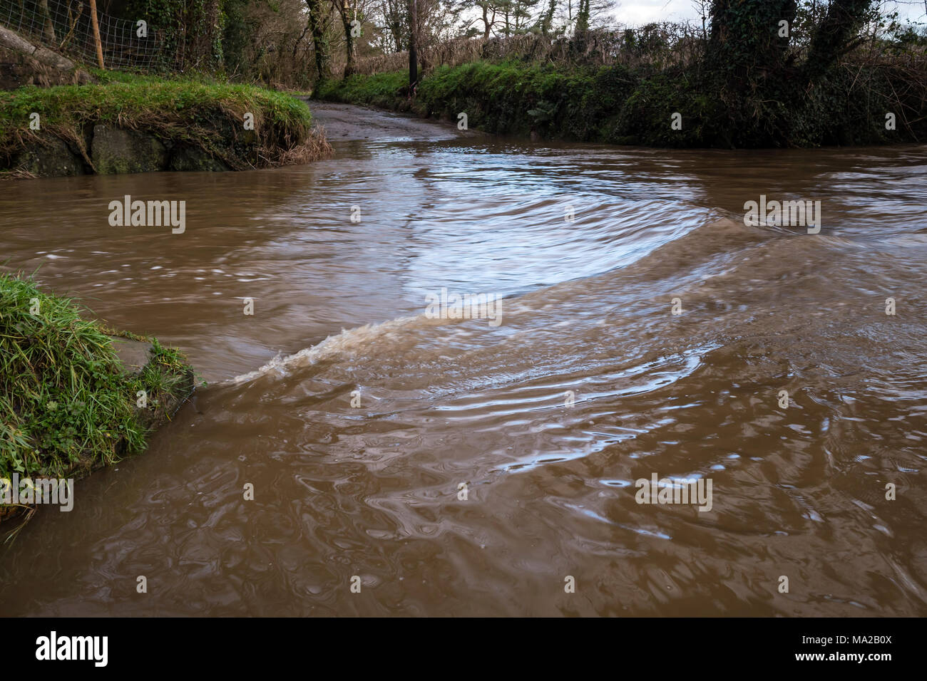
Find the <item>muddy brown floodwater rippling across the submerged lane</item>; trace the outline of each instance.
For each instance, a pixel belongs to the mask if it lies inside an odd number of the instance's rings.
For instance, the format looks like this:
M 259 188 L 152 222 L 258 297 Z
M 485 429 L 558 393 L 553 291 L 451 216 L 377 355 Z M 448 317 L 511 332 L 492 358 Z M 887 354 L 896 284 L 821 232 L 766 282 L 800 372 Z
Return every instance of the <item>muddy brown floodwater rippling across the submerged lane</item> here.
M 0 613 L 927 614 L 927 147 L 314 108 L 309 166 L 0 185 L 6 270 L 209 381 L 0 552 Z M 185 232 L 110 227 L 123 195 Z M 820 200 L 820 233 L 745 226 L 760 195 Z M 442 288 L 502 323 L 429 317 Z M 638 503 L 654 474 L 711 510 Z

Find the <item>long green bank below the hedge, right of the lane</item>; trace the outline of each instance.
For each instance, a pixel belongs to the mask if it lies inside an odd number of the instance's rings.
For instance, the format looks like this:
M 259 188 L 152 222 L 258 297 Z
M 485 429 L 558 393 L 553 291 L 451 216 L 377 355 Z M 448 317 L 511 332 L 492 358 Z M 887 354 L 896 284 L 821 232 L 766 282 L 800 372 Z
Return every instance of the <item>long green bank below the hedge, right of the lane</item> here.
M 698 66 L 662 71 L 475 62 L 442 67 L 414 99 L 405 72 L 323 82 L 324 100 L 413 111 L 470 128 L 544 139 L 667 147 L 869 145 L 927 139 L 927 79 L 890 60 L 842 64 L 799 101 L 757 97 L 747 107 L 722 102 Z M 900 95 L 899 95 L 900 94 Z M 747 110 L 742 119 L 732 118 Z M 905 112 L 920 111 L 921 116 Z M 733 112 L 733 113 L 732 113 Z M 895 130 L 885 114 L 895 112 Z M 679 129 L 673 114 L 680 114 Z

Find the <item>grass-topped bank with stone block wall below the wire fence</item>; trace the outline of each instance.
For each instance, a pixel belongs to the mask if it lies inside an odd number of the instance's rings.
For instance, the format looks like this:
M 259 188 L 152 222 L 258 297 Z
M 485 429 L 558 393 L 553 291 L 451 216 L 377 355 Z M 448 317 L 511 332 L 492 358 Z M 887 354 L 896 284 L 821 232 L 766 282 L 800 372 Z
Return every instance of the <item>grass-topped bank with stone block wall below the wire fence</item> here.
M 252 85 L 112 71 L 97 71 L 95 78 L 95 84 L 0 92 L 0 169 L 32 174 L 247 170 L 304 163 L 330 152 L 324 135 L 313 130 L 309 108 L 290 95 Z M 123 155 L 146 156 L 147 144 L 153 158 L 141 159 L 141 165 L 133 165 L 132 158 L 122 165 L 119 158 L 111 161 L 108 156 L 122 152 L 110 148 L 111 132 L 108 147 L 95 148 L 101 126 L 133 143 Z M 52 153 L 57 154 L 52 161 L 35 160 Z M 62 165 L 70 171 L 43 171 Z

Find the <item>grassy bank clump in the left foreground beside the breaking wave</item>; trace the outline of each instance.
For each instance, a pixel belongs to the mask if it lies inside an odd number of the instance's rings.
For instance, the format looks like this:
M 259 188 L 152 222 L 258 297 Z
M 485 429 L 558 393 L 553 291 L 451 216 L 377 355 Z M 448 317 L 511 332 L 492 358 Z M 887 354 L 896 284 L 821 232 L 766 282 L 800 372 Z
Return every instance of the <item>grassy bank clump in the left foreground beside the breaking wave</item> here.
M 133 374 L 113 334 L 31 278 L 0 274 L 0 477 L 71 477 L 119 460 L 188 395 L 192 372 L 177 350 L 152 340 Z

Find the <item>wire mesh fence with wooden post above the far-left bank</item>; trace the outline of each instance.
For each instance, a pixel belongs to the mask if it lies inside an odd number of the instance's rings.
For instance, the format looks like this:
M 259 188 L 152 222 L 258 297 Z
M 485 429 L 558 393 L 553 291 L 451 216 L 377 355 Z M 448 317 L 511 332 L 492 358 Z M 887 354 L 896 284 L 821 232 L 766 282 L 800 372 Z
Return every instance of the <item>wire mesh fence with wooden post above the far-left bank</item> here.
M 165 32 L 144 21 L 97 11 L 103 64 L 107 69 L 154 70 L 171 66 Z M 97 63 L 88 0 L 0 0 L 0 24 L 33 43 L 87 64 Z

